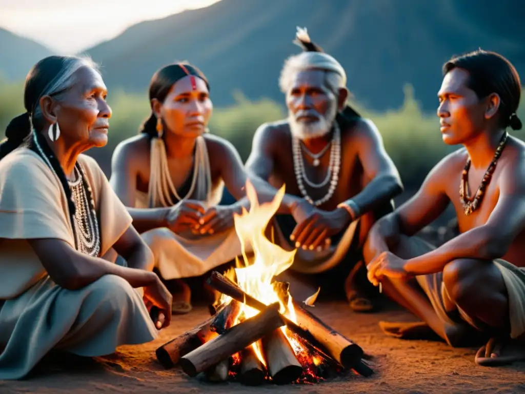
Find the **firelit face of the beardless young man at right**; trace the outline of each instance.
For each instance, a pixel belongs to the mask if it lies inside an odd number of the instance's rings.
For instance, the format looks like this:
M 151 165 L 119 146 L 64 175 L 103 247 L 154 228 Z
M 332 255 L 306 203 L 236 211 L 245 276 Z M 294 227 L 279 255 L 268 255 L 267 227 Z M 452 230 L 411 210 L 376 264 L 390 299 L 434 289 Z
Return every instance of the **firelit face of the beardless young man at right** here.
M 468 88 L 468 78 L 467 71 L 454 68 L 443 78 L 437 94 L 437 116 L 443 141 L 449 145 L 477 137 L 486 125 L 487 101 Z

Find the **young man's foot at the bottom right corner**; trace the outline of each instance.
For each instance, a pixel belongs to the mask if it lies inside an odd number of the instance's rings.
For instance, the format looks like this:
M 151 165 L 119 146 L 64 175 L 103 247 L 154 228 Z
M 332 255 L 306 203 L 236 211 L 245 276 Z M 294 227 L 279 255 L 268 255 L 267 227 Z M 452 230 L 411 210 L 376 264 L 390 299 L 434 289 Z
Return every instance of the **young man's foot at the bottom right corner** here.
M 485 367 L 509 365 L 516 361 L 525 361 L 525 344 L 512 339 L 491 338 L 482 346 L 475 358 L 476 364 Z

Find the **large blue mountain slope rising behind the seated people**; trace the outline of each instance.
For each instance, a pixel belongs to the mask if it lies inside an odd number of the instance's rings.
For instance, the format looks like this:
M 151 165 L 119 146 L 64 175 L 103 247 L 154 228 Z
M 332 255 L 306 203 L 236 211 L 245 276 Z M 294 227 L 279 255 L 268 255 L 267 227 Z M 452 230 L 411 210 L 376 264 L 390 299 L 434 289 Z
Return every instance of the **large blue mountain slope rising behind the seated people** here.
M 283 61 L 300 51 L 292 40 L 301 26 L 341 62 L 360 103 L 397 108 L 412 84 L 422 107 L 434 110 L 452 55 L 495 50 L 525 75 L 519 15 L 525 2 L 516 0 L 222 0 L 131 26 L 85 53 L 110 89 L 143 94 L 155 70 L 188 60 L 209 79 L 216 106 L 233 103 L 235 90 L 282 102 L 277 80 Z

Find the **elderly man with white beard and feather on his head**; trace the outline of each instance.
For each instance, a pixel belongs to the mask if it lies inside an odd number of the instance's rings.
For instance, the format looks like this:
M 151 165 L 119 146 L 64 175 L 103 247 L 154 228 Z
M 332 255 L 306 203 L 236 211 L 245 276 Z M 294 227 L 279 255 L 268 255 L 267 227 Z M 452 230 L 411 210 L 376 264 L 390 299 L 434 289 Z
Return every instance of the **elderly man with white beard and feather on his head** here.
M 289 57 L 279 85 L 288 119 L 265 123 L 254 136 L 246 168 L 275 188 L 286 185 L 290 214 L 277 214 L 268 235 L 295 260 L 280 278 L 290 292 L 304 284 L 320 295 L 346 296 L 356 312 L 370 312 L 376 290 L 366 279 L 362 245 L 372 224 L 402 192 L 398 171 L 374 123 L 346 104 L 346 74 L 298 28 L 303 52 Z

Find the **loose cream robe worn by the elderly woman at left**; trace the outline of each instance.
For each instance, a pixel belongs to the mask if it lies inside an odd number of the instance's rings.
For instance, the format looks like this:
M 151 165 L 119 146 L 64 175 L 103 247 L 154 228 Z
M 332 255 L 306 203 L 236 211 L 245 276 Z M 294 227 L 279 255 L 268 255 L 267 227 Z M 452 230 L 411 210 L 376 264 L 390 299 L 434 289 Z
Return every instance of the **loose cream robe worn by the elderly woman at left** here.
M 78 160 L 93 192 L 103 255 L 131 217 L 96 161 Z M 0 161 L 0 380 L 24 377 L 53 348 L 101 356 L 157 336 L 142 297 L 124 279 L 106 275 L 76 291 L 56 285 L 27 242 L 37 238 L 75 245 L 60 181 L 35 152 L 19 148 Z

